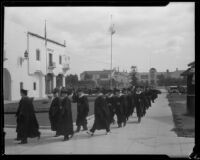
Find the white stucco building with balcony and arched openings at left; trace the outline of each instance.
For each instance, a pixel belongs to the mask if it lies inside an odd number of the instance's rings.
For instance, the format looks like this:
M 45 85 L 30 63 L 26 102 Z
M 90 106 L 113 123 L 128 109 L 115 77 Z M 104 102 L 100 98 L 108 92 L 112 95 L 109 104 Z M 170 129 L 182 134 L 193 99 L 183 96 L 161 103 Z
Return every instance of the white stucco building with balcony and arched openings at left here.
M 37 99 L 47 97 L 55 87 L 65 86 L 69 70 L 65 43 L 45 40 L 10 21 L 4 25 L 4 100 L 19 100 L 21 88 Z

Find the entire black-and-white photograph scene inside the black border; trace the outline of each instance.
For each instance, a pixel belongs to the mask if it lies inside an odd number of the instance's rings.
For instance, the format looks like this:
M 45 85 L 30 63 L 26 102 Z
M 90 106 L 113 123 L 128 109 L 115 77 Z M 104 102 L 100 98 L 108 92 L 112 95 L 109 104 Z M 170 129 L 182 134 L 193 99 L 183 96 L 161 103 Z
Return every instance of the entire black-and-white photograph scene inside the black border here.
M 199 159 L 195 5 L 4 6 L 4 154 Z

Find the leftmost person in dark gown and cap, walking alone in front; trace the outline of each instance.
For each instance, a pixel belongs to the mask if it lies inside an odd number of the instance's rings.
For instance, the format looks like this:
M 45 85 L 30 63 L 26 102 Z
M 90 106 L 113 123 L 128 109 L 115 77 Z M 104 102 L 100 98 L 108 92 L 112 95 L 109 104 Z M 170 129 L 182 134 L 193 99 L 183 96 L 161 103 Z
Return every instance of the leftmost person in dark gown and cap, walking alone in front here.
M 19 144 L 28 143 L 28 138 L 38 137 L 40 139 L 39 124 L 35 116 L 33 106 L 33 99 L 27 96 L 28 91 L 25 89 L 20 90 L 21 100 L 17 109 L 17 138 L 20 140 Z

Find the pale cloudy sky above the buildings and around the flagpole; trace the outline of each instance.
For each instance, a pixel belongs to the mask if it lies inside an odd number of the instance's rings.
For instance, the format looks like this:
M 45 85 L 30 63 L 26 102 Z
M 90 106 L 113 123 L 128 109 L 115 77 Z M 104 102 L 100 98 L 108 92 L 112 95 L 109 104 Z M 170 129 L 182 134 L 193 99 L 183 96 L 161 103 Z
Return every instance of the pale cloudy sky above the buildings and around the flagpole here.
M 187 69 L 194 61 L 194 2 L 164 7 L 6 7 L 5 19 L 64 43 L 69 74 L 111 68 L 139 72 Z

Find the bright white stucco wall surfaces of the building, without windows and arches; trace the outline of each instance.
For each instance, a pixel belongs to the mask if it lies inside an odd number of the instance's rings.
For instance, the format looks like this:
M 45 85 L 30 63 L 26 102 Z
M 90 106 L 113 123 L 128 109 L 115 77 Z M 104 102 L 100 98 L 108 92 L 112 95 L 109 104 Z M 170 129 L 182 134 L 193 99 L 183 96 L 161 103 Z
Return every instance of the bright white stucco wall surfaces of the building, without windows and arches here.
M 4 30 L 4 50 L 7 60 L 4 61 L 4 68 L 7 68 L 11 75 L 11 100 L 19 100 L 20 82 L 23 82 L 24 89 L 28 90 L 30 97 L 43 98 L 45 95 L 45 78 L 46 74 L 46 54 L 45 41 L 29 35 L 29 72 L 28 61 L 24 60 L 20 65 L 20 57 L 24 57 L 27 50 L 27 29 L 5 20 Z M 53 61 L 56 62 L 56 68 L 53 70 L 55 75 L 62 73 L 62 65 L 59 65 L 59 55 L 66 55 L 66 48 L 47 43 L 47 47 L 54 50 Z M 36 61 L 36 49 L 40 49 L 40 61 Z M 47 63 L 49 60 L 47 59 Z M 64 59 L 62 59 L 64 62 Z M 41 74 L 35 73 L 41 71 Z M 29 75 L 29 73 L 31 75 Z M 33 90 L 33 83 L 36 82 L 36 90 Z M 39 84 L 41 84 L 39 86 Z M 40 88 L 41 94 L 40 94 Z

